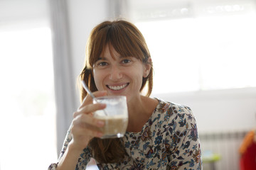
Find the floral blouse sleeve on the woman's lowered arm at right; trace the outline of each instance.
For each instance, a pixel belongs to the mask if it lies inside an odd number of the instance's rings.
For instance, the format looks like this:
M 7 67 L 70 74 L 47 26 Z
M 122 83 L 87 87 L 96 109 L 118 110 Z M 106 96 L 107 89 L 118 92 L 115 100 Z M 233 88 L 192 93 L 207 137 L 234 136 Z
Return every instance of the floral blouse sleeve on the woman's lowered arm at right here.
M 176 113 L 169 120 L 170 169 L 201 170 L 201 146 L 191 108 L 176 105 L 169 109 Z

